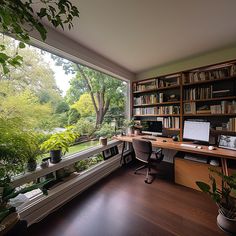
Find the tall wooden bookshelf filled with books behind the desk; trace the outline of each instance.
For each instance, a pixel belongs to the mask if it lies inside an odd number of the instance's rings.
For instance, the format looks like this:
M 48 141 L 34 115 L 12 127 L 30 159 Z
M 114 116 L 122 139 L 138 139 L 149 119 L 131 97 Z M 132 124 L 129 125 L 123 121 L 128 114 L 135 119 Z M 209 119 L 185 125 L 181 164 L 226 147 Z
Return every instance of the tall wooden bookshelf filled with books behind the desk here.
M 236 135 L 236 60 L 132 83 L 132 115 L 160 120 L 179 134 L 187 119 L 211 122 L 211 134 Z

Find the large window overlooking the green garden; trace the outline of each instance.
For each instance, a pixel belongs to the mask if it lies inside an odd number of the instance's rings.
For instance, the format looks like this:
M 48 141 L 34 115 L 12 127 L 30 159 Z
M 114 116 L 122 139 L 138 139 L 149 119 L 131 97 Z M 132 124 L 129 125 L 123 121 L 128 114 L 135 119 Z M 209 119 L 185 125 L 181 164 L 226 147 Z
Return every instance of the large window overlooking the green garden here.
M 53 148 L 68 155 L 98 145 L 99 137 L 111 138 L 122 127 L 125 81 L 32 46 L 18 49 L 6 36 L 0 40 L 23 57 L 9 74 L 0 71 L 2 176 L 40 162 Z

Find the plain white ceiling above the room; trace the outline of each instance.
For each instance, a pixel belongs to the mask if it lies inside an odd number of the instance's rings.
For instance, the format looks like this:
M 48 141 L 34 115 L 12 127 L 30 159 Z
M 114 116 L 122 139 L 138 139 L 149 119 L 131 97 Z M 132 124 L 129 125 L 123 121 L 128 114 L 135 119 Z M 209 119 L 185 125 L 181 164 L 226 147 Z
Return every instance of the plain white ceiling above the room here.
M 236 43 L 236 0 L 72 2 L 80 18 L 61 32 L 134 73 Z

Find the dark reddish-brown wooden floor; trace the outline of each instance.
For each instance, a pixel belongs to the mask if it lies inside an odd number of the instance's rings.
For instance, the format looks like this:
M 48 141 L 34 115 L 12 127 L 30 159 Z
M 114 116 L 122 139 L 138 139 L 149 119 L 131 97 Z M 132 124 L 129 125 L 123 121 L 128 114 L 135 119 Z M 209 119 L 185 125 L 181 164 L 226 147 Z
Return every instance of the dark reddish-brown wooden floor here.
M 165 163 L 163 163 L 165 165 Z M 32 236 L 224 235 L 205 194 L 119 169 L 29 228 Z

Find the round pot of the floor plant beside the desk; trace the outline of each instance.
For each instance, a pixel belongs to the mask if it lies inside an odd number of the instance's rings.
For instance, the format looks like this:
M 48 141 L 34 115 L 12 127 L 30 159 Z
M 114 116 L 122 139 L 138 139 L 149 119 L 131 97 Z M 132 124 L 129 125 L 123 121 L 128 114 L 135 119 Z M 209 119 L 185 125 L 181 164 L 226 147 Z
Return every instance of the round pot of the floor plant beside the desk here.
M 217 216 L 217 225 L 229 235 L 236 235 L 236 219 L 229 219 L 219 212 Z

